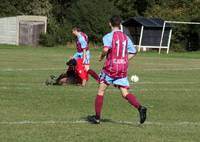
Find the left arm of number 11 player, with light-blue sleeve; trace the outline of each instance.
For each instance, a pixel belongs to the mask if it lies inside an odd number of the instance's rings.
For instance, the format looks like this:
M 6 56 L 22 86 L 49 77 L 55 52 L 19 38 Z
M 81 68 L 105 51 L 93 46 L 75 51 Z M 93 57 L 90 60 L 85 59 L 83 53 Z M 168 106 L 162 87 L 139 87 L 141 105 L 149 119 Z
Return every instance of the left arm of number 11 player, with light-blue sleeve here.
M 112 46 L 112 38 L 110 34 L 107 34 L 103 37 L 103 50 L 101 52 L 101 55 L 99 56 L 99 61 L 103 60 L 104 57 L 107 55 L 109 49 Z

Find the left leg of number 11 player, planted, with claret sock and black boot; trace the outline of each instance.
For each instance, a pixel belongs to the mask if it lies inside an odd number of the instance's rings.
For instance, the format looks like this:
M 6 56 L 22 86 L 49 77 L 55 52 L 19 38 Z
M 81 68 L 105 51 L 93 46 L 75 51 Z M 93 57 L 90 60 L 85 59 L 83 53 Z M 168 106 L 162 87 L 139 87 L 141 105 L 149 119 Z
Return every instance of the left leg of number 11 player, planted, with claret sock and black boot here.
M 102 106 L 103 106 L 103 96 L 104 96 L 104 92 L 107 87 L 108 87 L 108 85 L 106 85 L 105 83 L 100 83 L 100 85 L 99 85 L 98 94 L 96 95 L 96 99 L 95 99 L 96 115 L 88 116 L 88 121 L 93 124 L 100 123 L 101 110 L 102 110 Z

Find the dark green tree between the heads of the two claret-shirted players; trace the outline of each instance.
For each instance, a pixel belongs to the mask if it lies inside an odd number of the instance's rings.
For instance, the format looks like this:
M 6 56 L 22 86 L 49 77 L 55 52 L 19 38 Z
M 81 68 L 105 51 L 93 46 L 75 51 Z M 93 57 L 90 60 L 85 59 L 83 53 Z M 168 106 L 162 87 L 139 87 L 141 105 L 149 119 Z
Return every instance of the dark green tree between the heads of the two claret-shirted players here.
M 119 10 L 108 0 L 77 0 L 69 9 L 68 19 L 85 31 L 90 40 L 101 40 L 109 32 L 108 20 L 116 14 L 120 14 Z

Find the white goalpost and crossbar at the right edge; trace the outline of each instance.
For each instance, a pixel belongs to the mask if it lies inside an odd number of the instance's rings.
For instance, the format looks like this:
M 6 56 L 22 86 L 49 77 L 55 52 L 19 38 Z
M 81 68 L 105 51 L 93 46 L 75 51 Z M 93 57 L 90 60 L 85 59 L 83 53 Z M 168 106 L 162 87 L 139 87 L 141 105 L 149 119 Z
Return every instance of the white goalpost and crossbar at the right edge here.
M 164 32 L 165 32 L 165 26 L 166 24 L 188 24 L 188 25 L 200 25 L 200 22 L 181 22 L 181 21 L 164 21 L 163 23 L 163 29 L 162 29 L 162 33 L 161 33 L 161 39 L 160 39 L 160 48 L 159 48 L 159 54 L 161 52 L 161 48 L 162 48 L 162 43 L 163 43 L 163 37 L 164 37 Z M 171 32 L 171 31 L 170 31 Z M 171 40 L 171 33 L 170 33 L 170 37 L 169 37 L 169 42 Z M 169 46 L 167 48 L 167 54 L 169 53 Z

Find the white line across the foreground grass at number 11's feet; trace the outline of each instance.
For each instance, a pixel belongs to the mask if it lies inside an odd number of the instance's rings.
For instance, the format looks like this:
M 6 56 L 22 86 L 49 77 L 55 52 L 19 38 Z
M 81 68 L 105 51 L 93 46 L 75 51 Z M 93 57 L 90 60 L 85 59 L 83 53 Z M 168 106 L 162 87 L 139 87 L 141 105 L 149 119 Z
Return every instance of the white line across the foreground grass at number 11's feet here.
M 24 121 L 2 121 L 0 122 L 0 125 L 37 125 L 37 124 L 89 124 L 86 120 L 72 120 L 72 121 L 31 121 L 31 120 L 24 120 Z M 109 120 L 108 122 L 103 121 L 102 123 L 116 123 L 116 124 L 130 124 L 130 125 L 138 125 L 138 122 L 130 122 L 130 121 L 114 121 Z M 158 125 L 158 126 L 200 126 L 200 122 L 150 122 L 147 121 L 144 123 L 144 125 Z

